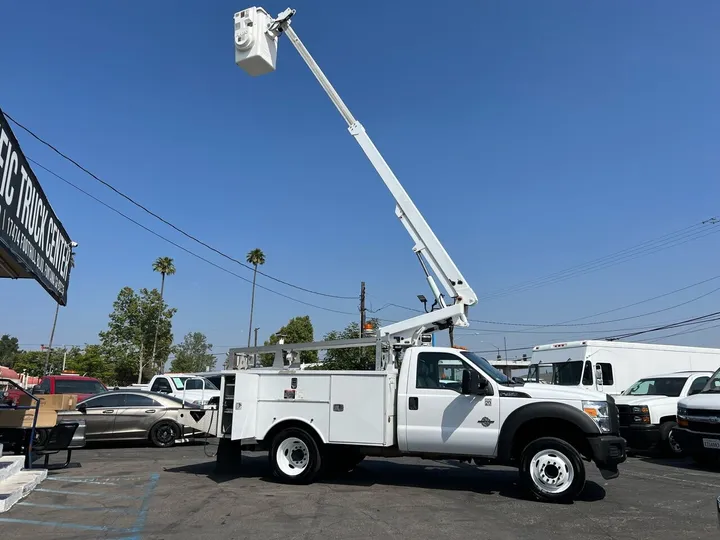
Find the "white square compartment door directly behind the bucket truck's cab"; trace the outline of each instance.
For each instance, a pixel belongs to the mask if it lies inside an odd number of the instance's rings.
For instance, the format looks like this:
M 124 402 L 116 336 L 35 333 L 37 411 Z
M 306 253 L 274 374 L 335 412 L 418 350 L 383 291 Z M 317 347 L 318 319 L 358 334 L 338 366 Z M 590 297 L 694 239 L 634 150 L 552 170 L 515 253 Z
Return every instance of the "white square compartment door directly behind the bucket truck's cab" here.
M 332 375 L 329 442 L 384 444 L 386 384 L 383 373 Z

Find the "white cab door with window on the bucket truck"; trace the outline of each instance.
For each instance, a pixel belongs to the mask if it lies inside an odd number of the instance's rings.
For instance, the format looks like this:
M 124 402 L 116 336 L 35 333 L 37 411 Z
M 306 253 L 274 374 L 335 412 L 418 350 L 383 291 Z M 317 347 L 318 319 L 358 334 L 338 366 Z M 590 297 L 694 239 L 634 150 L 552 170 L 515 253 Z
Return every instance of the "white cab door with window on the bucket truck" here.
M 410 452 L 492 456 L 497 446 L 500 424 L 500 399 L 492 382 L 489 395 L 464 395 L 458 384 L 443 379 L 443 364 L 462 363 L 455 370 L 475 370 L 467 361 L 452 353 L 420 352 L 415 360 L 415 373 L 408 380 L 405 403 L 407 408 L 406 437 Z M 461 379 L 462 380 L 462 379 Z

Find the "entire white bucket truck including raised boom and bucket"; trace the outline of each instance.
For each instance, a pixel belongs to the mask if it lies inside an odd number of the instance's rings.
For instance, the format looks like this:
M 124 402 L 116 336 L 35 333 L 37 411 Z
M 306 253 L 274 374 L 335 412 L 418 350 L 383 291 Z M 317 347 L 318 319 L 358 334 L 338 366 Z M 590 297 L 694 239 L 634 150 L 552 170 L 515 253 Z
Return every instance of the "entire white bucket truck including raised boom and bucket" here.
M 477 296 L 298 39 L 290 26 L 294 13 L 288 9 L 275 19 L 256 7 L 236 13 L 236 63 L 251 75 L 273 71 L 278 38 L 287 34 L 395 199 L 437 309 L 384 326 L 376 338 L 231 350 L 274 352 L 275 365 L 206 374 L 220 376 L 219 408 L 188 410 L 181 422 L 220 437 L 223 469 L 239 464 L 242 450 L 266 450 L 274 474 L 289 483 L 349 470 L 365 456 L 509 464 L 519 468 L 532 493 L 550 501 L 580 493 L 584 461 L 594 462 L 607 479 L 617 477 L 626 457 L 612 397 L 582 388 L 524 387 L 474 353 L 430 346 L 433 332 L 468 326 Z M 436 278 L 451 301 L 440 294 Z M 361 346 L 375 347 L 374 371 L 285 365 L 298 351 Z M 448 373 L 456 384 L 443 379 Z

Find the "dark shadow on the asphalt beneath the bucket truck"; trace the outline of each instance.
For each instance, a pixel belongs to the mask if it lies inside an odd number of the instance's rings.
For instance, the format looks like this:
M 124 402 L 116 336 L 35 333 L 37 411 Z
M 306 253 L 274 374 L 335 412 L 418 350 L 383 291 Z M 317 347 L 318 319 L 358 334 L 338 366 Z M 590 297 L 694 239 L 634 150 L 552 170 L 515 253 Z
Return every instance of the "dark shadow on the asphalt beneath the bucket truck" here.
M 272 476 L 267 456 L 243 455 L 242 467 L 234 474 L 215 472 L 215 462 L 203 462 L 183 467 L 166 468 L 166 472 L 207 476 L 217 483 L 240 478 L 255 478 L 263 482 L 279 483 Z M 318 484 L 348 487 L 415 487 L 466 491 L 485 495 L 500 495 L 516 500 L 532 500 L 518 484 L 518 473 L 514 469 L 488 469 L 469 464 L 428 461 L 424 464 L 398 463 L 382 459 L 366 459 L 353 471 L 332 477 L 321 477 Z M 588 480 L 577 500 L 595 502 L 605 498 L 605 489 Z

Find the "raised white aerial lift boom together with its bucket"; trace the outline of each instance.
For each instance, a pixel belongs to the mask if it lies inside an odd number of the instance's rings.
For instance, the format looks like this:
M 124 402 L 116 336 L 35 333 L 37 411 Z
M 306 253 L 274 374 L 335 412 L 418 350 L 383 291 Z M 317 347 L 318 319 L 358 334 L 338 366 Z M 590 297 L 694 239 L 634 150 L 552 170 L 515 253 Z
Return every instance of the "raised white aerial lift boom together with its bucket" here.
M 283 33 L 287 34 L 290 42 L 345 119 L 351 135 L 365 152 L 395 199 L 395 214 L 415 242 L 413 251 L 420 260 L 438 309 L 383 326 L 379 329 L 380 337 L 388 338 L 392 344 L 412 345 L 417 344 L 423 333 L 454 326 L 469 326 L 468 308 L 477 303 L 477 295 L 385 162 L 363 125 L 352 115 L 350 109 L 290 26 L 290 19 L 294 14 L 295 10 L 288 8 L 273 19 L 264 9 L 257 7 L 236 13 L 235 61 L 250 75 L 261 75 L 274 71 L 277 41 Z M 446 303 L 425 263 L 432 270 L 432 274 L 440 280 L 448 296 L 452 299 L 451 304 Z

